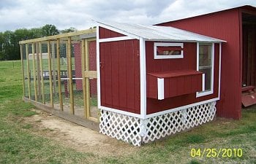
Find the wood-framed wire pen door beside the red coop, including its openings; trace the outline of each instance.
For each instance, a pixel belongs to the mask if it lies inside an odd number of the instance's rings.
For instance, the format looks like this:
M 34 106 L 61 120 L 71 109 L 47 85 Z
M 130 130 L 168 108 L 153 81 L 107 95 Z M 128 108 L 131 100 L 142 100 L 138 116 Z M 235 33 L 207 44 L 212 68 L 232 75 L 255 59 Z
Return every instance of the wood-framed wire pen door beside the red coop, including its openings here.
M 83 104 L 84 117 L 98 122 L 97 108 L 97 66 L 95 39 L 82 39 Z

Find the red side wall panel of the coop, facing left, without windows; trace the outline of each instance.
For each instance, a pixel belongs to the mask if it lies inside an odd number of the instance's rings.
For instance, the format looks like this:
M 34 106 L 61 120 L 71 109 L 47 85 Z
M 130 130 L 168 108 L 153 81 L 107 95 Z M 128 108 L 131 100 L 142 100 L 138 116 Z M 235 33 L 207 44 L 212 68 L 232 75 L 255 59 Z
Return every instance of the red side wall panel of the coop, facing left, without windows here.
M 99 43 L 101 105 L 140 114 L 140 50 L 136 39 Z

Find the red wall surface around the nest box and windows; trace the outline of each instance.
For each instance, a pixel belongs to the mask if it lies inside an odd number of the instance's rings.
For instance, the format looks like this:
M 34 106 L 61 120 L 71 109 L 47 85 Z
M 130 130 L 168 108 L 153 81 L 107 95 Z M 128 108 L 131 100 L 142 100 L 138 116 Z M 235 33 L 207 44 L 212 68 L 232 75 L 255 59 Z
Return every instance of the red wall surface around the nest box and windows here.
M 173 109 L 179 106 L 194 104 L 218 97 L 219 90 L 219 44 L 214 45 L 214 93 L 211 95 L 196 98 L 195 93 L 180 95 L 173 98 L 157 100 L 147 98 L 147 114 Z M 184 43 L 184 58 L 179 59 L 154 59 L 154 42 L 146 42 L 146 73 L 178 70 L 197 70 L 197 47 L 196 43 Z M 148 84 L 147 79 L 147 84 Z M 149 84 L 154 85 L 154 84 Z M 148 85 L 148 86 L 149 86 Z M 186 86 L 184 86 L 186 87 Z M 178 88 L 177 88 L 178 89 Z M 148 91 L 148 90 L 147 90 Z

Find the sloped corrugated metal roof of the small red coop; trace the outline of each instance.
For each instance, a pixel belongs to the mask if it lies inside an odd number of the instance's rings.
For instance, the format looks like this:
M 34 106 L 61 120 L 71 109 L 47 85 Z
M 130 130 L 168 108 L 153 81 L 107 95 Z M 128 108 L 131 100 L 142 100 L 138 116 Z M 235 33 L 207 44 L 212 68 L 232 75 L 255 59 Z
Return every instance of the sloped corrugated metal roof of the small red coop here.
M 151 26 L 140 24 L 128 24 L 128 23 L 102 23 L 99 24 L 116 28 L 119 31 L 132 34 L 135 36 L 143 37 L 148 40 L 159 41 L 179 41 L 179 42 L 225 42 L 221 39 L 215 39 L 209 36 L 203 36 L 200 34 L 184 31 L 178 28 L 166 27 L 166 26 Z

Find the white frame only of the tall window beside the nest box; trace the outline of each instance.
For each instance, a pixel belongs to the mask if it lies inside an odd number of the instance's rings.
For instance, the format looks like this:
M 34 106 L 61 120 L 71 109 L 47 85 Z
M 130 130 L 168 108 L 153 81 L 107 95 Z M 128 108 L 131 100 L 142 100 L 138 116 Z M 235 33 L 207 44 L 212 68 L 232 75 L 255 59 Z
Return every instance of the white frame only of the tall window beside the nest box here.
M 197 71 L 199 71 L 199 46 L 205 42 L 197 42 Z M 206 43 L 205 43 L 206 44 Z M 207 43 L 208 44 L 208 43 Z M 196 97 L 201 97 L 204 95 L 211 95 L 214 93 L 214 43 L 211 43 L 211 90 L 205 91 L 205 76 L 202 76 L 202 92 L 197 92 Z

